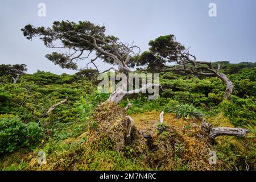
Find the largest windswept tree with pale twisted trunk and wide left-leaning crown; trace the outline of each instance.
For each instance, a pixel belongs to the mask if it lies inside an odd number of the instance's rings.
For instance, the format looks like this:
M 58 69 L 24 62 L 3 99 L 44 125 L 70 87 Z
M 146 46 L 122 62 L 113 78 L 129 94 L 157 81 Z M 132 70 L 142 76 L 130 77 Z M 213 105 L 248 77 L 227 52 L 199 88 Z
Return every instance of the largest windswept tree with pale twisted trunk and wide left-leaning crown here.
M 106 35 L 105 31 L 104 26 L 88 21 L 74 23 L 68 20 L 53 22 L 51 28 L 34 27 L 31 24 L 22 28 L 23 35 L 28 40 L 38 36 L 46 47 L 63 49 L 64 53 L 52 52 L 46 55 L 47 59 L 61 68 L 77 69 L 77 61 L 95 55 L 89 62 L 85 62 L 87 66 L 93 64 L 96 67 L 94 61 L 101 59 L 106 63 L 118 65 L 118 71 L 127 75 L 130 72 L 131 57 L 137 55 L 140 49 L 133 43 L 122 43 L 117 37 Z M 97 67 L 96 69 L 98 70 Z M 151 86 L 154 84 L 147 84 L 142 90 Z M 134 93 L 133 90 L 123 92 L 120 87 L 110 95 L 109 100 L 118 103 L 126 94 L 131 93 Z

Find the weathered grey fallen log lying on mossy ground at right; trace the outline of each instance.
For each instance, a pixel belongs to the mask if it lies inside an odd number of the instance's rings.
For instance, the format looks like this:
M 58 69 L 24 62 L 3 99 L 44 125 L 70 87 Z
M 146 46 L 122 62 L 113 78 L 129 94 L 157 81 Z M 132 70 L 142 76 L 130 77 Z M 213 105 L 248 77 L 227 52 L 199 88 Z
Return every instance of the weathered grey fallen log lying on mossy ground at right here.
M 221 135 L 245 137 L 246 133 L 250 132 L 249 130 L 242 129 L 241 127 L 212 127 L 212 125 L 205 122 L 205 120 L 202 122 L 201 130 L 207 133 L 211 140 Z

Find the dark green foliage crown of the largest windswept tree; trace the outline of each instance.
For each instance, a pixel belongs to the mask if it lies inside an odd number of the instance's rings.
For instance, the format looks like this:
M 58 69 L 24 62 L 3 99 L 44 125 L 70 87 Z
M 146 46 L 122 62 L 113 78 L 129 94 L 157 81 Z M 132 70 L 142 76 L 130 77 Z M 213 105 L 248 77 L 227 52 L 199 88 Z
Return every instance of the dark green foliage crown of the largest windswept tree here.
M 110 64 L 116 64 L 111 56 L 104 52 L 111 52 L 116 56 L 122 54 L 123 46 L 118 44 L 118 38 L 112 35 L 105 35 L 105 27 L 98 26 L 89 21 L 85 22 L 69 22 L 63 20 L 61 22 L 53 22 L 52 27 L 33 27 L 31 24 L 27 24 L 22 28 L 23 35 L 32 40 L 34 37 L 39 37 L 43 40 L 44 45 L 49 48 L 54 48 L 53 44 L 57 42 L 61 47 L 68 48 L 72 53 L 59 53 L 52 52 L 46 55 L 47 59 L 54 64 L 59 65 L 61 68 L 77 69 L 77 63 L 75 60 L 85 59 L 82 53 L 92 53 L 96 51 L 96 55 Z M 96 40 L 97 46 L 94 46 L 94 40 Z M 110 41 L 115 42 L 114 49 L 117 49 L 119 53 L 115 53 L 113 48 L 108 44 Z M 98 48 L 100 47 L 100 48 Z M 104 51 L 99 51 L 104 49 Z M 75 53 L 78 53 L 77 56 Z M 103 54 L 103 55 L 102 55 Z

